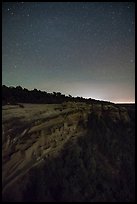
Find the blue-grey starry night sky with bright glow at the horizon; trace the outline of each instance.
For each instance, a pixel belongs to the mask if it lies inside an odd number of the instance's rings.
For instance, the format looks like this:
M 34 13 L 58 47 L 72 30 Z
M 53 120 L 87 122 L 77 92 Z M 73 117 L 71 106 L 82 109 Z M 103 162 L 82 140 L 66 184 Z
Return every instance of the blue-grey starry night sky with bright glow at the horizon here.
M 134 3 L 3 3 L 2 84 L 135 102 Z

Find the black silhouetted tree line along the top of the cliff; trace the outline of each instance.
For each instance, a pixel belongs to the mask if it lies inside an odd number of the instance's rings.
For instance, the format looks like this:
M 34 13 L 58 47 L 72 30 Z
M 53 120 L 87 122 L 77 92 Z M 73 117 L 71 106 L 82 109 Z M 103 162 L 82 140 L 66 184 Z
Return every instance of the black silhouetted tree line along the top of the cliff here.
M 95 99 L 85 99 L 83 97 L 65 96 L 60 92 L 47 93 L 37 89 L 28 90 L 17 87 L 2 86 L 2 104 L 17 103 L 38 103 L 38 104 L 60 104 L 63 102 L 86 102 L 86 103 L 110 103 L 108 101 L 99 101 Z

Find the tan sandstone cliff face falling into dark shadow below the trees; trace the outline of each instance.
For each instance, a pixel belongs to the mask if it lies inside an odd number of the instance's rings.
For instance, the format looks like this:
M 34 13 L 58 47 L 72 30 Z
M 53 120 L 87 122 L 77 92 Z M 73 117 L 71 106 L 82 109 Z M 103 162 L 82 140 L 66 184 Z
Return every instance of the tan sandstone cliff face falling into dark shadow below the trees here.
M 3 201 L 134 201 L 134 111 L 115 105 L 5 106 Z

